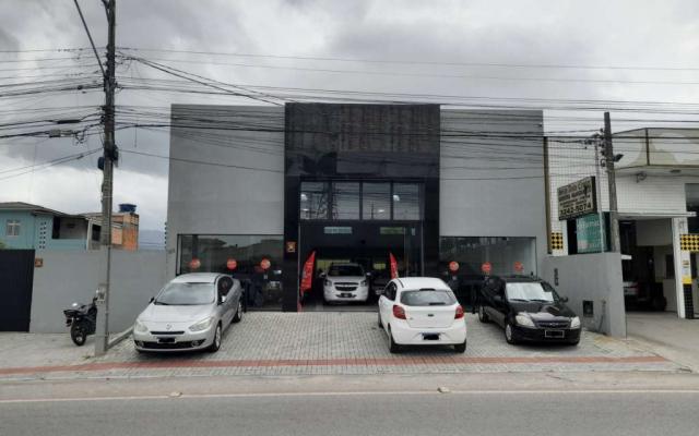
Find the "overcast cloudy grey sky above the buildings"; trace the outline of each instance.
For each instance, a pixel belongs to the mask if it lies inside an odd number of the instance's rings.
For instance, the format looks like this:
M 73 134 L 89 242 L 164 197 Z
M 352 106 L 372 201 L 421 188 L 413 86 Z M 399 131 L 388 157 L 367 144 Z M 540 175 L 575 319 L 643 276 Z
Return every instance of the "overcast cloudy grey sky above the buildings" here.
M 305 93 L 391 93 L 417 101 L 424 99 L 417 95 L 438 95 L 443 102 L 477 97 L 517 106 L 532 106 L 531 99 L 541 98 L 546 99 L 541 107 L 546 109 L 545 129 L 550 133 L 601 126 L 609 101 L 616 102 L 611 107 L 615 131 L 660 124 L 668 118 L 692 119 L 676 112 L 699 97 L 696 0 L 117 3 L 117 45 L 125 56 L 118 68 L 125 86 L 117 105 L 141 111 L 151 107 L 165 119 L 175 102 L 259 101 L 182 93 L 178 85 L 162 81 L 147 82 L 158 83 L 157 90 L 132 89 L 147 80 L 178 78 L 129 57 L 226 84 Z M 104 55 L 102 2 L 80 0 L 80 4 Z M 45 130 L 46 120 L 61 117 L 85 117 L 81 129 L 94 124 L 104 99 L 99 88 L 85 86 L 100 80 L 94 55 L 58 51 L 88 46 L 73 1 L 0 0 L 0 136 Z M 34 93 L 24 93 L 27 89 Z M 624 105 L 638 108 L 637 101 L 654 102 L 653 108 L 667 102 L 664 108 L 670 113 L 615 110 Z M 579 110 L 581 106 L 596 110 Z M 7 126 L 37 120 L 44 124 Z M 138 122 L 139 117 L 129 121 Z M 96 155 L 56 164 L 100 146 L 96 128 L 85 132 L 84 141 L 0 138 L 0 201 L 31 202 L 68 213 L 98 210 L 102 174 Z M 168 135 L 167 129 L 125 129 L 117 141 L 122 150 L 167 155 Z M 167 159 L 122 154 L 115 197 L 115 203 L 139 206 L 142 228 L 162 229 Z

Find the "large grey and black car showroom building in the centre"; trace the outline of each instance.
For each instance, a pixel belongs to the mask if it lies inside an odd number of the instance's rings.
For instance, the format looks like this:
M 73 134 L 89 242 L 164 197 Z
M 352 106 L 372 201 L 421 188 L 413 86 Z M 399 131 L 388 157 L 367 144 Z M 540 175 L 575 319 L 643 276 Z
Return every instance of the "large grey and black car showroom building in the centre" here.
M 546 255 L 542 111 L 175 105 L 171 124 L 168 277 L 235 271 L 262 281 L 254 305 L 297 311 L 312 253 L 313 276 L 393 255 L 458 283 Z

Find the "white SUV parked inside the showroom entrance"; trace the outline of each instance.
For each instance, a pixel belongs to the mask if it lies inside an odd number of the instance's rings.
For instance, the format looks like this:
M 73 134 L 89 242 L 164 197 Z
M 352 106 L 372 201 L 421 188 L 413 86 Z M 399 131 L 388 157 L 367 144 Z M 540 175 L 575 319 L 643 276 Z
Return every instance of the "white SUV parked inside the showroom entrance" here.
M 366 302 L 369 282 L 359 264 L 331 264 L 323 280 L 325 302 Z

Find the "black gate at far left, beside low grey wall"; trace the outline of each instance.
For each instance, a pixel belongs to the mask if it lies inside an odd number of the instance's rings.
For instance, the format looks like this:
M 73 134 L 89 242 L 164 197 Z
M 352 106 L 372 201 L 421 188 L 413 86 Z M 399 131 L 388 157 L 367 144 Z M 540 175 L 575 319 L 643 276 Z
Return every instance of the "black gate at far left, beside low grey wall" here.
M 29 331 L 34 250 L 0 250 L 0 331 Z

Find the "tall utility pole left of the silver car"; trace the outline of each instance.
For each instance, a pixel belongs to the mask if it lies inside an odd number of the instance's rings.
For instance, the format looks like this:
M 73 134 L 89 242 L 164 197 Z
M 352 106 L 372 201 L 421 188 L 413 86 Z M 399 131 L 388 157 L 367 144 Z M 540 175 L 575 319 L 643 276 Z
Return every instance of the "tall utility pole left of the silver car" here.
M 107 13 L 108 37 L 107 37 L 107 71 L 104 78 L 105 106 L 103 108 L 105 138 L 104 138 L 104 160 L 103 160 L 103 182 L 102 182 L 102 228 L 99 242 L 106 253 L 105 278 L 99 286 L 102 302 L 97 308 L 97 331 L 95 336 L 95 355 L 103 355 L 109 348 L 109 286 L 111 275 L 111 208 L 112 208 L 112 185 L 114 185 L 114 164 L 117 160 L 117 145 L 115 143 L 115 88 L 116 62 L 115 62 L 115 39 L 116 39 L 116 0 L 102 0 Z

